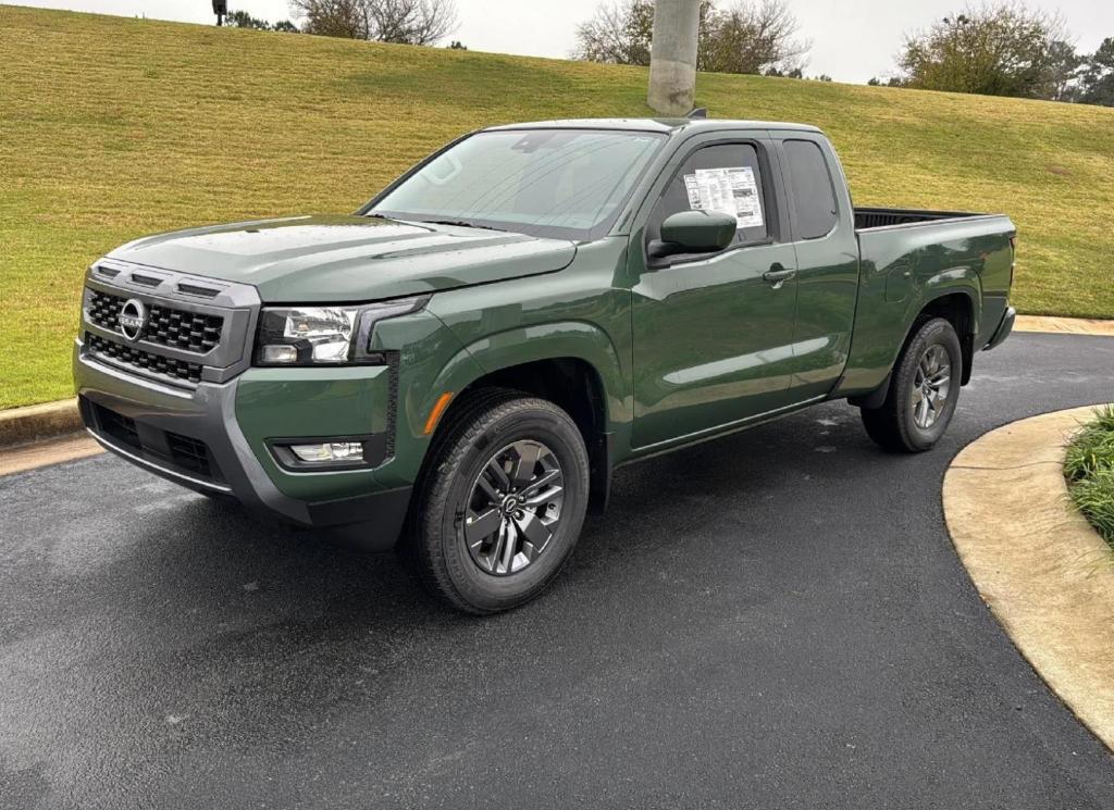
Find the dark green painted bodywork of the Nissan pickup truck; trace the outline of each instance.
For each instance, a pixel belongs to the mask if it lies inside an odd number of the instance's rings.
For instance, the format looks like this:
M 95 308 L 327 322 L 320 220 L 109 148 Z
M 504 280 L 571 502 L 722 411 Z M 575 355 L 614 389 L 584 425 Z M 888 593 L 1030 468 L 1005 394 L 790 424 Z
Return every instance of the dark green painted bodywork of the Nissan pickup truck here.
M 573 244 L 313 217 L 179 231 L 111 255 L 254 284 L 264 303 L 434 293 L 422 312 L 377 327 L 375 348 L 398 353 L 393 405 L 395 372 L 387 367 L 254 368 L 237 381 L 236 418 L 252 450 L 283 493 L 306 501 L 413 483 L 438 397 L 525 363 L 573 358 L 590 367 L 604 392 L 610 462 L 620 464 L 812 402 L 870 393 L 887 379 L 917 315 L 940 296 L 970 302 L 976 349 L 1006 312 L 1014 233 L 1007 218 L 857 233 L 842 169 L 814 128 L 714 120 L 544 126 L 668 135 L 607 236 Z M 821 146 L 837 189 L 838 224 L 818 239 L 795 237 L 779 147 L 790 135 Z M 768 155 L 771 243 L 647 260 L 644 228 L 672 172 L 694 148 L 732 139 Z M 703 214 L 674 217 L 665 231 L 691 247 L 724 237 Z M 764 277 L 771 270 L 778 280 Z M 388 429 L 392 407 L 394 454 L 374 471 L 295 474 L 277 467 L 264 446 L 289 435 Z

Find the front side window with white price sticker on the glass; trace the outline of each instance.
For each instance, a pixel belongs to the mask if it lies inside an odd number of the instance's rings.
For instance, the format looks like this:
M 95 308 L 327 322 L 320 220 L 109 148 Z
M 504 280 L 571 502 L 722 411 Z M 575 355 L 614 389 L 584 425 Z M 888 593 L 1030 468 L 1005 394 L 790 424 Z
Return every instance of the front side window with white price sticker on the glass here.
M 670 180 L 646 224 L 657 239 L 671 214 L 692 209 L 723 211 L 735 217 L 733 245 L 765 241 L 770 235 L 762 192 L 759 155 L 750 144 L 706 146 L 692 155 Z

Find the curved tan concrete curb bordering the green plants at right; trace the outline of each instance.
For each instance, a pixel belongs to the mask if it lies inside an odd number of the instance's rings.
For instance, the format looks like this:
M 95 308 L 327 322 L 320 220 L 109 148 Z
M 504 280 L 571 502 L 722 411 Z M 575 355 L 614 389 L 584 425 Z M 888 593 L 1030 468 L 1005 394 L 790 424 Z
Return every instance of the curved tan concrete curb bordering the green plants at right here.
M 1066 439 L 1096 406 L 1022 419 L 956 456 L 944 516 L 983 600 L 1048 686 L 1114 750 L 1114 551 L 1071 505 Z

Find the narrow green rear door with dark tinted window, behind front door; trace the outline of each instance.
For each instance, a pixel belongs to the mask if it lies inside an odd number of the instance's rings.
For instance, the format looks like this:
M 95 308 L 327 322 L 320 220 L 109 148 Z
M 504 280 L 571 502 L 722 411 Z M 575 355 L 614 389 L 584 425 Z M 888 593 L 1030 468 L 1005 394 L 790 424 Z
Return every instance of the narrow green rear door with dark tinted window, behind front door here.
M 847 180 L 819 132 L 775 132 L 797 251 L 795 368 L 804 401 L 829 393 L 851 348 L 859 294 L 859 243 Z

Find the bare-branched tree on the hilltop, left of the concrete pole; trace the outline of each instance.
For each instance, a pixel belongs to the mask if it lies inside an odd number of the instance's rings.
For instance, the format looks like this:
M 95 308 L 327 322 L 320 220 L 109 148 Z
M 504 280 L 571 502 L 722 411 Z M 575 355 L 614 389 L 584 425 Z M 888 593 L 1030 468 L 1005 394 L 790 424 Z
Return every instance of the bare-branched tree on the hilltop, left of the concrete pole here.
M 453 0 L 291 0 L 302 30 L 323 37 L 434 45 L 457 29 Z

